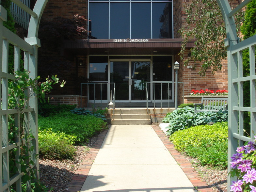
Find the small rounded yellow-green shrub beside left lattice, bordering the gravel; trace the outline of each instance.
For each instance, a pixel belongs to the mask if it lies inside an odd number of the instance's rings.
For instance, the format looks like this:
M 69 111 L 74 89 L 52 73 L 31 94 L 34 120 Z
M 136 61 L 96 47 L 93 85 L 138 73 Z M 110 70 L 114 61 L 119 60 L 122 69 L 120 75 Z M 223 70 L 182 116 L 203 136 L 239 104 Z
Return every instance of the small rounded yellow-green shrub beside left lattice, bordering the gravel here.
M 40 142 L 39 156 L 47 159 L 73 159 L 76 149 L 64 140 L 47 139 Z

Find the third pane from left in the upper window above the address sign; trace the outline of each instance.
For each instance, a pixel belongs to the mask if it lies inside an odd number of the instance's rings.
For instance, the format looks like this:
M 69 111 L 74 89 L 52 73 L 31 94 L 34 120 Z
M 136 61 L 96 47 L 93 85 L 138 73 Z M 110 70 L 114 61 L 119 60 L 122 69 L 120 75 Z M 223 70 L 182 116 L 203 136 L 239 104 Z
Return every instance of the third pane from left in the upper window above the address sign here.
M 131 38 L 151 38 L 151 3 L 132 3 Z

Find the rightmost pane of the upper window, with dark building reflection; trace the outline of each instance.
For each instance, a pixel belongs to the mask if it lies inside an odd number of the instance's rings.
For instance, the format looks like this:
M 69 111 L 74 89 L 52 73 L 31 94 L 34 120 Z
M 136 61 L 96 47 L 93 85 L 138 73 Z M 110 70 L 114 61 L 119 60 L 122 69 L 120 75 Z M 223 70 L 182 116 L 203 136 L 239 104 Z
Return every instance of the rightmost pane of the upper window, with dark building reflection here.
M 172 4 L 152 3 L 153 39 L 172 38 Z

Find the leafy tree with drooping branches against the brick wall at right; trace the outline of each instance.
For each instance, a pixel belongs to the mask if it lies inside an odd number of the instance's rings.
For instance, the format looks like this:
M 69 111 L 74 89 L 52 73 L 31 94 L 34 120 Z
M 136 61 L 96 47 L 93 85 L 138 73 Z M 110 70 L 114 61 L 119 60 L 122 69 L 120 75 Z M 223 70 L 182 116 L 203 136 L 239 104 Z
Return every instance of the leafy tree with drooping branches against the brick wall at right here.
M 237 6 L 240 1 L 231 1 L 232 6 Z M 186 43 L 191 39 L 196 39 L 195 47 L 191 51 L 191 56 L 184 60 L 184 65 L 190 61 L 202 62 L 200 75 L 204 76 L 206 70 L 212 67 L 212 72 L 221 70 L 221 61 L 226 59 L 227 49 L 224 46 L 226 37 L 225 24 L 221 10 L 216 0 L 192 0 L 189 4 L 184 4 L 187 14 L 186 23 L 179 32 L 184 38 L 180 51 L 181 59 L 184 59 Z M 236 25 L 239 28 L 243 22 L 244 12 L 240 11 L 236 16 Z M 194 66 L 196 67 L 196 66 Z

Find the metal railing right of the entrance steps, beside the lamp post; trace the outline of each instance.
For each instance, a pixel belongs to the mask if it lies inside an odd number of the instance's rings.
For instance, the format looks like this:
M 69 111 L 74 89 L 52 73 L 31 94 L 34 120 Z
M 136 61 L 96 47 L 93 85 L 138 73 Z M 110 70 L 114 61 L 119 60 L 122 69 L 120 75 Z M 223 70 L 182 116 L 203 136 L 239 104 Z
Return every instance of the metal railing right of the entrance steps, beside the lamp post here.
M 184 95 L 184 88 L 183 88 L 183 82 L 177 82 L 178 84 L 182 84 L 182 95 Z M 160 85 L 160 92 L 161 92 L 161 97 L 160 97 L 160 99 L 155 99 L 156 98 L 156 96 L 155 96 L 155 92 L 156 92 L 156 89 L 155 89 L 155 87 L 156 87 L 156 84 L 159 84 Z M 168 99 L 163 99 L 163 90 L 164 89 L 166 89 L 166 88 L 163 88 L 163 85 L 165 85 L 165 84 L 167 84 L 167 92 L 168 92 L 168 94 L 167 94 L 167 96 L 168 96 Z M 163 100 L 165 100 L 165 101 L 167 101 L 167 103 L 168 103 L 168 108 L 170 108 L 170 96 L 172 96 L 172 98 L 174 98 L 173 96 L 174 96 L 174 94 L 172 94 L 172 87 L 174 87 L 175 88 L 175 82 L 172 82 L 172 81 L 169 81 L 169 82 L 161 82 L 161 81 L 159 81 L 159 82 L 149 82 L 149 83 L 147 83 L 147 88 L 146 88 L 146 94 L 147 94 L 147 96 L 146 96 L 146 98 L 147 98 L 147 111 L 148 111 L 148 109 L 149 109 L 149 99 L 148 99 L 148 85 L 150 86 L 150 87 L 152 87 L 152 89 L 153 89 L 153 98 L 152 98 L 152 101 L 153 101 L 153 103 L 154 103 L 154 108 L 155 108 L 155 103 L 161 103 L 161 108 L 163 108 Z M 152 85 L 152 86 L 151 86 Z M 171 93 L 170 93 L 171 92 Z M 176 94 L 176 93 L 175 93 Z M 156 102 L 156 100 L 157 101 L 159 101 L 160 100 L 160 102 Z

